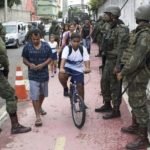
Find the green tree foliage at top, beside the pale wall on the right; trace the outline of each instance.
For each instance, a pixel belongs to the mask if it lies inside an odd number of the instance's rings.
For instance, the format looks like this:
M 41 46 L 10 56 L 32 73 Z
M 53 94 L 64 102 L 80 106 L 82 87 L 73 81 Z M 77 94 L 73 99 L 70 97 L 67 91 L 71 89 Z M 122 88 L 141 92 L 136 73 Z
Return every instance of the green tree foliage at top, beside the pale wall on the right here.
M 93 11 L 94 15 L 97 17 L 98 9 L 104 4 L 106 0 L 90 0 L 90 9 Z

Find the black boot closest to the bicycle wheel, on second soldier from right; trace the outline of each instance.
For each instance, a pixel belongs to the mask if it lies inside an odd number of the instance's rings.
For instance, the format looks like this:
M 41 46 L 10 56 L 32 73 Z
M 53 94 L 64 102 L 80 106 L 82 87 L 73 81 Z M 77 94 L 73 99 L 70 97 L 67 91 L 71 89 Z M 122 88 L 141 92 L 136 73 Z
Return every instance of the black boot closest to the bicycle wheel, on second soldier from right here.
M 112 111 L 112 106 L 110 102 L 105 102 L 103 106 L 101 106 L 100 108 L 96 108 L 95 112 L 111 112 Z

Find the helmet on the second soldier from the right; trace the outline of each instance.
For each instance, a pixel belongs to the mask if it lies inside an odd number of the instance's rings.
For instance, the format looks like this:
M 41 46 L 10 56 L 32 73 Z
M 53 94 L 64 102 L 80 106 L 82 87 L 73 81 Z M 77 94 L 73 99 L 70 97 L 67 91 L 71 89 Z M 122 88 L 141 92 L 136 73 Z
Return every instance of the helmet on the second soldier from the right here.
M 113 14 L 114 16 L 118 16 L 120 17 L 121 15 L 121 9 L 117 6 L 109 6 L 105 9 L 104 13 L 111 13 Z

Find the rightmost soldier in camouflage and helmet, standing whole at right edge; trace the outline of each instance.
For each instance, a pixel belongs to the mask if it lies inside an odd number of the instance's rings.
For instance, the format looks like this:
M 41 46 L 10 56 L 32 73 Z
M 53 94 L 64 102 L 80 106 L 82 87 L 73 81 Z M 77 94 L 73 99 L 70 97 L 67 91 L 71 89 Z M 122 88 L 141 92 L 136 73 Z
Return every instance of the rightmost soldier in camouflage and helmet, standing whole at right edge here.
M 129 83 L 129 104 L 132 108 L 132 125 L 121 129 L 124 133 L 136 133 L 138 138 L 126 145 L 127 149 L 145 149 L 149 145 L 147 129 L 149 114 L 147 110 L 146 89 L 150 77 L 150 5 L 140 6 L 135 12 L 135 38 L 132 56 L 118 74 L 118 80 L 126 77 Z

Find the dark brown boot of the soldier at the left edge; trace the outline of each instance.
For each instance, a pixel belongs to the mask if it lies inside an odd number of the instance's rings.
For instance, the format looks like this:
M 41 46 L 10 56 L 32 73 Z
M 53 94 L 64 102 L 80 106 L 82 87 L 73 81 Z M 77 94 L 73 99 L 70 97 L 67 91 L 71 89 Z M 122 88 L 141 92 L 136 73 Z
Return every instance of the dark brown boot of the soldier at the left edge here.
M 31 131 L 30 127 L 24 127 L 18 122 L 17 113 L 9 114 L 11 120 L 11 134 L 26 133 Z

